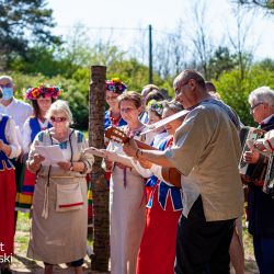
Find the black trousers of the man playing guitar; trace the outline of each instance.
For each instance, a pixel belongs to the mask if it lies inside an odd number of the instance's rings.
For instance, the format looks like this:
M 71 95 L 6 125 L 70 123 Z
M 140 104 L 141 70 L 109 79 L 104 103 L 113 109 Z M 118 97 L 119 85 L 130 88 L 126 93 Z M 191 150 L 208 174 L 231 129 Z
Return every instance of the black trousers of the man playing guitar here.
M 178 226 L 175 274 L 229 274 L 235 219 L 206 221 L 202 197 Z

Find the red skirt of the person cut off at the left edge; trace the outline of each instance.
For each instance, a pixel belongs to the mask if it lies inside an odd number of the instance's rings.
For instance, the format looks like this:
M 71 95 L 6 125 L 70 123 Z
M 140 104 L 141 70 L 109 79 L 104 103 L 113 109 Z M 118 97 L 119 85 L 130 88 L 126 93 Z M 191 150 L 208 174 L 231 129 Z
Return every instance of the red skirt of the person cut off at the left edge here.
M 15 195 L 14 170 L 0 171 L 0 256 L 13 254 Z

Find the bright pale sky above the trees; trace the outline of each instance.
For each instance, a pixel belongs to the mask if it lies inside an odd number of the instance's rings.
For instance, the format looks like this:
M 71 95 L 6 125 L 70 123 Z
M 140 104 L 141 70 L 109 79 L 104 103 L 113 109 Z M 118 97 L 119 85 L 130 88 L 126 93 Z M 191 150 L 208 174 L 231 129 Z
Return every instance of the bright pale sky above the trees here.
M 147 28 L 149 24 L 160 32 L 171 33 L 180 21 L 191 32 L 194 23 L 190 3 L 192 0 L 49 0 L 48 7 L 54 10 L 57 23 L 56 34 L 66 34 L 77 23 L 87 27 L 128 27 Z M 202 2 L 202 0 L 199 1 Z M 206 27 L 215 44 L 225 43 L 228 36 L 236 35 L 236 20 L 232 16 L 232 0 L 207 0 Z M 236 5 L 233 5 L 236 8 Z M 274 58 L 274 16 L 265 16 L 256 12 L 249 16 L 242 25 L 249 25 L 248 47 L 255 48 L 255 59 Z M 94 30 L 93 30 L 94 31 Z M 110 30 L 96 30 L 99 35 L 106 35 Z M 112 30 L 115 43 L 128 45 L 134 43 L 135 30 Z

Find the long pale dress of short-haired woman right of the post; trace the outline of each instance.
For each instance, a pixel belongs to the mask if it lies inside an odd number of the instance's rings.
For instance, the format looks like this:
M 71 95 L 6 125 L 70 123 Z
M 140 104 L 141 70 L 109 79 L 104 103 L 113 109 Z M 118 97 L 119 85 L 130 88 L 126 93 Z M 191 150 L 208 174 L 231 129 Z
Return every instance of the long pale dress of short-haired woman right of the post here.
M 112 144 L 107 149 L 112 149 Z M 135 169 L 114 164 L 110 182 L 112 274 L 136 273 L 146 220 L 144 187 L 144 178 Z

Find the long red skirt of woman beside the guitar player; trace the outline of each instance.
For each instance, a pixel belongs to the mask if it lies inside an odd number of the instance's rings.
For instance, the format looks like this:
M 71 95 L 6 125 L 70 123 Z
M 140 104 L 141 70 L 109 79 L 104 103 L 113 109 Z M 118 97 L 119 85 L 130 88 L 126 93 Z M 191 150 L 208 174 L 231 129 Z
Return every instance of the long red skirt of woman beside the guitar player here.
M 165 210 L 155 192 L 153 205 L 147 208 L 136 274 L 173 274 L 176 246 L 176 228 L 182 210 L 173 212 L 170 196 Z

